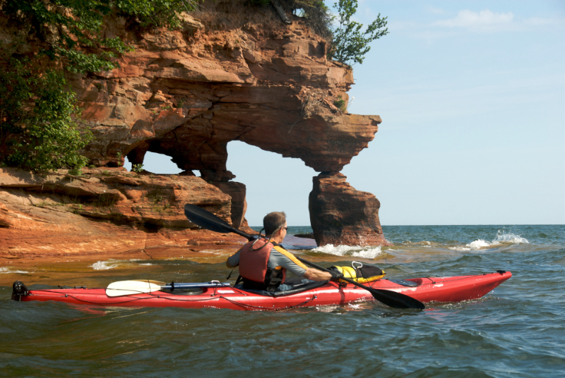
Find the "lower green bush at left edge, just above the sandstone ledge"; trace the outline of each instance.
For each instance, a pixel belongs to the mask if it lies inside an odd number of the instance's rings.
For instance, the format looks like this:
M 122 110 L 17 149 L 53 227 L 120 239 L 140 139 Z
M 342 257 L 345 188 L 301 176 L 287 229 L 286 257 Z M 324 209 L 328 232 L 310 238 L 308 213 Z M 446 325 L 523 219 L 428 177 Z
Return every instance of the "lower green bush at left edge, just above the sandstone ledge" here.
M 0 71 L 0 151 L 5 163 L 32 171 L 77 169 L 87 159 L 78 153 L 90 140 L 79 130 L 73 92 L 63 73 L 33 72 L 12 59 Z

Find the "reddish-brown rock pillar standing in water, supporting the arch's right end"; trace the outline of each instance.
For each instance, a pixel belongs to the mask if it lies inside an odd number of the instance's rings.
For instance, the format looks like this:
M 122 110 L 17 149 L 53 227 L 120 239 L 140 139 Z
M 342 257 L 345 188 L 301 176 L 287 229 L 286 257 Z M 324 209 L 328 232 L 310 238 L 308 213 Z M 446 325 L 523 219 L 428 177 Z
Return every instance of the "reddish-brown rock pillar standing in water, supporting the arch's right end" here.
M 310 222 L 318 245 L 391 245 L 384 238 L 374 195 L 355 190 L 341 173 L 314 177 Z

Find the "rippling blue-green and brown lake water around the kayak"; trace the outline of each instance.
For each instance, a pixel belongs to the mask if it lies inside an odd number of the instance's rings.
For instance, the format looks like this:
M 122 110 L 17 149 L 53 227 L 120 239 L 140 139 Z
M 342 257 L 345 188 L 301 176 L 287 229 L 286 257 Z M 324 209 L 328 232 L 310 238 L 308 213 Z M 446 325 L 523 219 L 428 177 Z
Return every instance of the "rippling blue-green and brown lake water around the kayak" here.
M 220 262 L 225 260 L 222 256 L 208 263 L 182 258 L 76 263 L 65 274 L 54 272 L 59 268 L 5 266 L 0 267 L 1 375 L 565 376 L 565 226 L 383 226 L 383 230 L 393 247 L 312 249 L 311 240 L 292 237 L 283 244 L 325 266 L 352 260 L 376 264 L 388 278 L 497 269 L 511 271 L 513 277 L 480 300 L 432 303 L 424 311 L 367 302 L 239 312 L 9 300 L 8 282 L 16 279 L 32 288 L 104 287 L 112 281 L 145 278 L 224 281 L 229 269 Z M 289 231 L 311 229 L 290 227 Z

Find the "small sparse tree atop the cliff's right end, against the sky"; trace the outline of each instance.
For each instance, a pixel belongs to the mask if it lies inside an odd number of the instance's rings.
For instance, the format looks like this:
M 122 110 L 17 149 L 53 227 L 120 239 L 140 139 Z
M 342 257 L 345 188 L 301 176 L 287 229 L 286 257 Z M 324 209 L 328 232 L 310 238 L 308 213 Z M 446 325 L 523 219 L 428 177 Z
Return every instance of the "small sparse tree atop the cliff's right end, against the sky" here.
M 369 43 L 388 34 L 386 17 L 381 18 L 381 13 L 362 32 L 363 24 L 351 20 L 357 12 L 357 0 L 339 0 L 334 6 L 338 8 L 338 21 L 340 27 L 333 31 L 333 44 L 328 57 L 341 63 L 363 63 L 365 54 L 371 47 Z

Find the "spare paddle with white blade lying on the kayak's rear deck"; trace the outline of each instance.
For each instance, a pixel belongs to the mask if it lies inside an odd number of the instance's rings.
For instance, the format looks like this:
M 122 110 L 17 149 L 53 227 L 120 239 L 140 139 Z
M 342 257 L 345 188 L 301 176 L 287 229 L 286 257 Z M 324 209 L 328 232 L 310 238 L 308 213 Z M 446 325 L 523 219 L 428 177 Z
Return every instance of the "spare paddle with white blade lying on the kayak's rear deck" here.
M 157 284 L 155 284 L 157 283 Z M 142 294 L 142 293 L 153 293 L 153 291 L 161 291 L 165 289 L 170 289 L 174 291 L 175 289 L 186 289 L 186 288 L 221 288 L 225 286 L 230 286 L 229 282 L 220 284 L 220 281 L 210 281 L 210 282 L 191 282 L 189 284 L 175 284 L 171 282 L 170 284 L 162 283 L 160 285 L 159 281 L 151 280 L 139 280 L 139 281 L 117 281 L 112 282 L 106 288 L 106 295 L 109 297 L 119 297 L 121 295 L 132 295 L 132 294 Z

